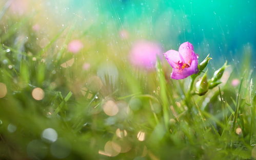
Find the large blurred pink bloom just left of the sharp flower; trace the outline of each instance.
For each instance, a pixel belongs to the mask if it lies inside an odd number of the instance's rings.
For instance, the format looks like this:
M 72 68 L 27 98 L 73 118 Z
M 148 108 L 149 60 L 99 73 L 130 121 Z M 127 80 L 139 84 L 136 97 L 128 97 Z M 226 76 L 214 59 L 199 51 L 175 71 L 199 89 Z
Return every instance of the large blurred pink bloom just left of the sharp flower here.
M 143 69 L 152 69 L 157 56 L 161 56 L 162 49 L 159 44 L 149 41 L 138 41 L 132 45 L 130 51 L 131 63 Z

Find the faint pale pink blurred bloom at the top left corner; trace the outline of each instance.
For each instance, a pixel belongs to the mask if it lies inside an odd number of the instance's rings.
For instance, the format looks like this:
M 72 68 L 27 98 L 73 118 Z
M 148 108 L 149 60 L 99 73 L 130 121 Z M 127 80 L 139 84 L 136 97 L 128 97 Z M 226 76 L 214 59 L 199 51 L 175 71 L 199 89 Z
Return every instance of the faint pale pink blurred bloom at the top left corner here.
M 28 1 L 27 0 L 13 0 L 11 2 L 10 10 L 14 14 L 22 15 L 28 9 Z

